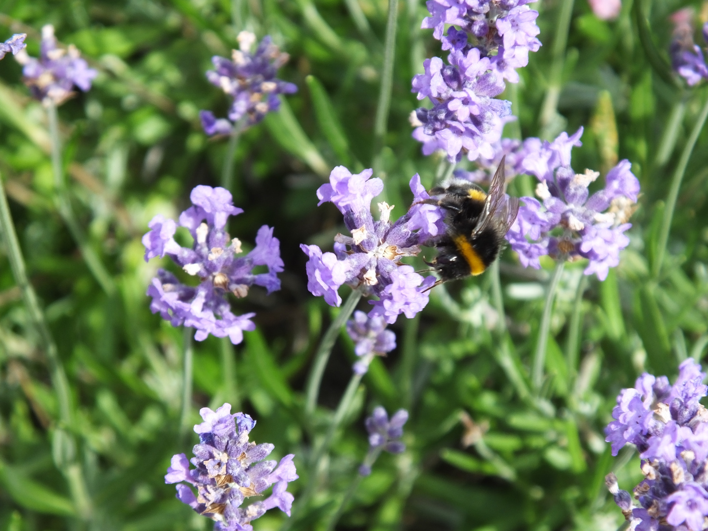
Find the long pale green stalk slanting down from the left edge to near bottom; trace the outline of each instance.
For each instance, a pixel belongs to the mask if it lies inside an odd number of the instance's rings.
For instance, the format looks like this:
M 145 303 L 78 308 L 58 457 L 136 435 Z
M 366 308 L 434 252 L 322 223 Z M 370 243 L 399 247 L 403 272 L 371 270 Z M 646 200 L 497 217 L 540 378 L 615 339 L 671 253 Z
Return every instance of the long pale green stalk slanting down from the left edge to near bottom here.
M 50 379 L 52 387 L 57 394 L 57 403 L 59 404 L 59 428 L 64 428 L 68 438 L 72 438 L 68 430 L 74 428 L 74 416 L 72 414 L 72 398 L 69 391 L 69 380 L 64 372 L 62 361 L 59 359 L 59 351 L 57 343 L 55 343 L 52 333 L 47 326 L 44 312 L 40 307 L 37 299 L 37 294 L 27 277 L 27 268 L 25 259 L 20 249 L 20 244 L 17 239 L 15 224 L 10 215 L 10 207 L 7 203 L 5 188 L 0 180 L 0 228 L 2 237 L 7 250 L 8 261 L 12 269 L 13 277 L 17 286 L 22 293 L 22 299 L 25 304 L 25 309 L 30 317 L 30 321 L 35 326 L 36 331 L 42 342 L 42 348 L 47 356 L 49 364 Z M 74 445 L 73 440 L 69 442 Z M 69 483 L 69 491 L 72 493 L 72 499 L 76 510 L 84 520 L 91 518 L 91 497 L 86 489 L 83 473 L 81 472 L 81 464 L 75 459 L 69 462 L 62 463 L 62 473 Z

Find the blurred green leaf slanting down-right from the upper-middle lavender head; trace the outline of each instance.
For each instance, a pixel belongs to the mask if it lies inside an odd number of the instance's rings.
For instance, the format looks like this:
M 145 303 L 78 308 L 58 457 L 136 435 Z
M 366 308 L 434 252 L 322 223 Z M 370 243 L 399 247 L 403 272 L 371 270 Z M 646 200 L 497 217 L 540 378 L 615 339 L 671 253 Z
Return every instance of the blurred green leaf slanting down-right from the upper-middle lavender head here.
M 282 149 L 297 156 L 317 175 L 329 176 L 329 164 L 305 135 L 285 98 L 280 98 L 280 110 L 277 113 L 268 113 L 263 122 Z

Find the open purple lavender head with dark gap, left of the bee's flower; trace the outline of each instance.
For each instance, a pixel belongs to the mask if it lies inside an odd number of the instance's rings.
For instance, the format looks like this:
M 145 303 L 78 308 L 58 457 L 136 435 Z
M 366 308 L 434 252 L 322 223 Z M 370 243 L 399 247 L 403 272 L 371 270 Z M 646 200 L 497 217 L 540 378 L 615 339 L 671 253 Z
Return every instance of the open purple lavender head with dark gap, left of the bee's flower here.
M 234 345 L 243 341 L 243 332 L 255 329 L 251 317 L 255 314 L 234 315 L 227 292 L 245 297 L 249 287 L 265 287 L 270 294 L 280 290 L 278 273 L 283 269 L 280 242 L 273 229 L 263 225 L 256 234 L 256 246 L 245 256 L 241 241 L 225 231 L 229 216 L 241 214 L 234 207 L 232 195 L 224 188 L 199 185 L 192 190 L 193 206 L 182 212 L 179 225 L 189 230 L 194 239 L 192 249 L 180 246 L 174 239 L 177 224 L 172 219 L 156 215 L 148 224 L 150 231 L 142 237 L 145 261 L 169 256 L 188 275 L 198 276 L 200 284 L 191 287 L 180 282 L 164 269 L 148 287 L 152 297 L 150 309 L 172 326 L 197 329 L 195 339 L 203 341 L 209 334 L 228 336 Z M 265 266 L 267 273 L 253 273 L 256 266 Z

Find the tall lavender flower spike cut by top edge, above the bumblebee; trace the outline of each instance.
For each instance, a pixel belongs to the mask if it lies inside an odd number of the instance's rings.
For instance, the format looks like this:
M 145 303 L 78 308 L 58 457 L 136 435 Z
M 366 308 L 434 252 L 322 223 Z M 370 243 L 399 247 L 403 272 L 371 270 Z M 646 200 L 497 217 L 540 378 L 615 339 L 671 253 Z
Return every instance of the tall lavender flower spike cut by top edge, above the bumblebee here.
M 442 50 L 450 50 L 450 64 L 440 57 L 426 59 L 425 74 L 413 77 L 412 91 L 433 105 L 411 114 L 413 138 L 423 142 L 423 154 L 442 149 L 450 161 L 459 161 L 462 153 L 471 161 L 493 158 L 491 144 L 501 138 L 504 122 L 513 119 L 511 103 L 494 97 L 506 88 L 504 79 L 518 83 L 516 69 L 525 67 L 528 52 L 541 46 L 536 38 L 538 13 L 528 3 L 426 2 L 430 16 L 422 27 L 434 28 Z M 451 25 L 443 35 L 446 23 Z

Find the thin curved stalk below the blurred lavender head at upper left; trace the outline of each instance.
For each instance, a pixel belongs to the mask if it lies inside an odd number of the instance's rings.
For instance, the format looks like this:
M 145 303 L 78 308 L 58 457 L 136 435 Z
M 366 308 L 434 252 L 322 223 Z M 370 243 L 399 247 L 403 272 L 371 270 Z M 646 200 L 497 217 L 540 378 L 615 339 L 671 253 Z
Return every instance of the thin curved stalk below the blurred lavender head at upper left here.
M 106 293 L 106 295 L 113 295 L 115 292 L 115 283 L 110 273 L 103 267 L 101 263 L 101 258 L 98 258 L 88 242 L 84 237 L 83 232 L 81 232 L 81 227 L 79 222 L 74 215 L 74 210 L 72 209 L 72 203 L 69 200 L 69 194 L 67 192 L 67 183 L 64 182 L 64 167 L 62 164 L 62 144 L 59 138 L 59 120 L 57 118 L 57 105 L 54 102 L 49 101 L 47 103 L 47 118 L 49 119 L 49 134 L 52 143 L 52 173 L 54 173 L 54 187 L 55 187 L 55 202 L 57 205 L 57 210 L 59 210 L 59 215 L 64 219 L 64 223 L 67 224 L 69 233 L 72 235 L 74 242 L 79 246 L 81 250 L 81 256 L 84 257 L 86 265 L 89 267 L 93 278 L 101 285 L 101 289 Z

